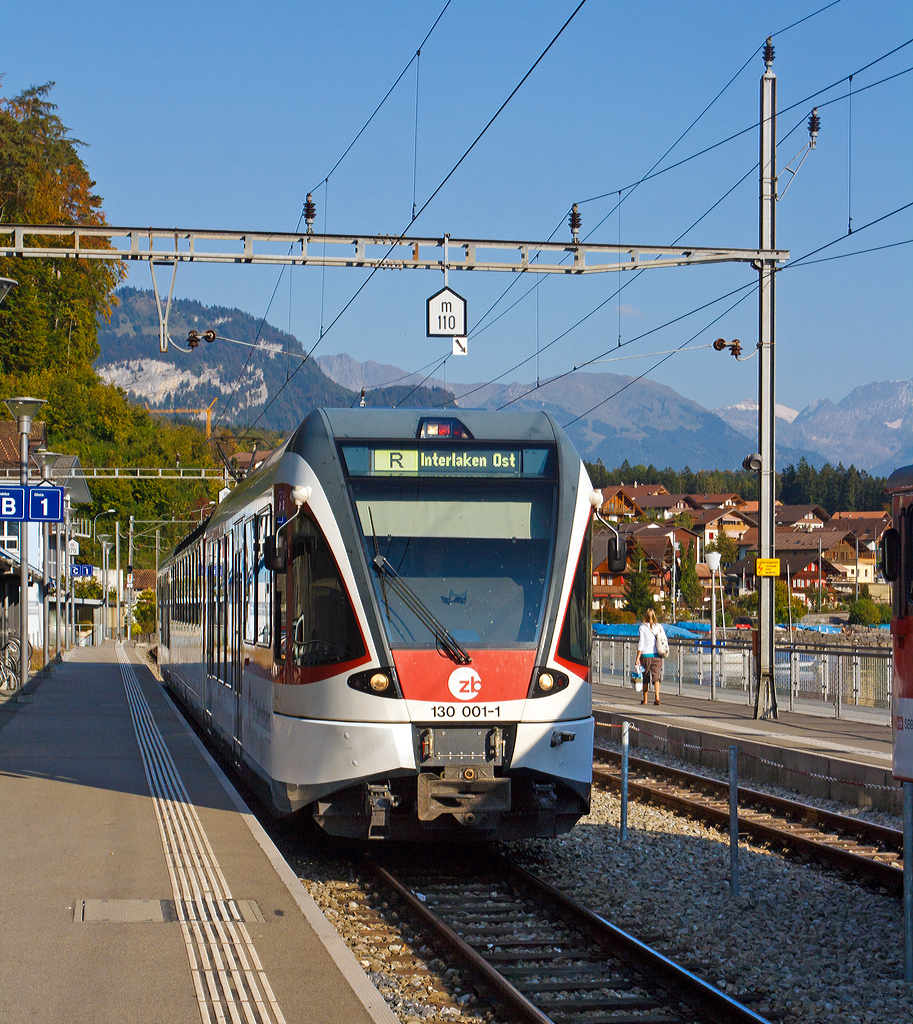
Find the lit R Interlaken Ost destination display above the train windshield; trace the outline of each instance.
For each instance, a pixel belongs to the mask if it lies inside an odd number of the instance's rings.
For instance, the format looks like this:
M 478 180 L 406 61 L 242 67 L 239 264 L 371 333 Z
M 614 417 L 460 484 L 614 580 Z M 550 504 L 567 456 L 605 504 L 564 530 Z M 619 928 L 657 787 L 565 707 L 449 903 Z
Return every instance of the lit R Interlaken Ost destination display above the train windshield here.
M 554 475 L 550 449 L 469 445 L 343 447 L 352 476 L 538 476 Z

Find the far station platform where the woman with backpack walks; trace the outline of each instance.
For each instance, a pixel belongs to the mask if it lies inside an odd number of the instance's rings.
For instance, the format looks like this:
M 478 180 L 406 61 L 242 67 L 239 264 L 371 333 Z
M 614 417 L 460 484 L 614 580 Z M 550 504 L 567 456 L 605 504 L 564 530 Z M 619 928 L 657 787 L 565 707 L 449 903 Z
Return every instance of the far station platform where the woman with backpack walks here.
M 739 784 L 780 785 L 799 795 L 903 814 L 903 790 L 892 773 L 893 731 L 882 721 L 825 718 L 778 709 L 776 719 L 754 718 L 754 707 L 731 697 L 710 700 L 660 686 L 661 703 L 641 703 L 629 686 L 593 687 L 597 742 L 629 744 L 726 771 L 729 748 L 739 749 Z M 600 725 L 604 720 L 605 724 Z

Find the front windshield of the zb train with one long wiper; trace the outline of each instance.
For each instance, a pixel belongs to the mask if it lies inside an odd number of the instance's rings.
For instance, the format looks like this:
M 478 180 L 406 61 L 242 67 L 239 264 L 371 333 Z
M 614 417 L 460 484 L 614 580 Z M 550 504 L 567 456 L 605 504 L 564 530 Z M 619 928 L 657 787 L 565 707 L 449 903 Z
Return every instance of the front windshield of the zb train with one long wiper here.
M 374 470 L 378 464 L 374 451 L 366 463 L 352 450 L 346 455 L 350 474 L 353 466 Z M 504 450 L 494 453 L 494 460 L 490 451 L 473 456 L 485 459 L 482 469 L 492 461 L 497 469 L 504 461 L 512 470 L 492 469 L 490 475 L 480 475 L 472 465 L 468 470 L 475 473 L 458 467 L 447 476 L 350 475 L 368 564 L 383 556 L 424 608 L 466 647 L 534 645 L 554 543 L 554 455 L 526 450 L 524 462 L 523 450 L 517 450 L 511 455 L 514 466 Z M 433 646 L 433 631 L 397 593 L 390 573 L 373 565 L 372 573 L 390 643 Z

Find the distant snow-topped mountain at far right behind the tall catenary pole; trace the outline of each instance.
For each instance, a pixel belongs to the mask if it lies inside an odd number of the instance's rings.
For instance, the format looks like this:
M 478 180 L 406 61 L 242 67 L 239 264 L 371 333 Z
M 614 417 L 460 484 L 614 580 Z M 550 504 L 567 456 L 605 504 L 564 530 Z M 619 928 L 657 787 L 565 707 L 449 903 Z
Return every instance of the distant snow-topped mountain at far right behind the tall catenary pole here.
M 736 430 L 756 436 L 756 402 L 715 413 Z M 777 443 L 819 453 L 833 465 L 887 475 L 913 461 L 913 381 L 862 384 L 836 404 L 819 398 L 800 413 L 778 406 Z

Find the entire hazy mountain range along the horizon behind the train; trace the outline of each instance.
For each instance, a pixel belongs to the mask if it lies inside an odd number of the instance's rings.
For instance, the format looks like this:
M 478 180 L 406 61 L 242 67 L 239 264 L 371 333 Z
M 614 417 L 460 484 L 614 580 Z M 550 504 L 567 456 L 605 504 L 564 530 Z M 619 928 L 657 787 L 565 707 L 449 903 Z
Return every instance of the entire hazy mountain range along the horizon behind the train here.
M 204 410 L 216 399 L 213 423 L 292 430 L 318 406 L 352 406 L 362 387 L 367 403 L 434 408 L 545 409 L 565 426 L 580 454 L 608 467 L 625 459 L 682 470 L 738 469 L 757 446 L 752 400 L 709 411 L 670 387 L 618 374 L 574 373 L 534 384 L 450 384 L 423 380 L 389 364 L 323 354 L 302 366 L 298 340 L 240 309 L 172 303 L 174 345 L 159 352 L 159 318 L 150 291 L 123 288 L 111 324 L 99 324 L 100 376 L 153 409 Z M 187 349 L 189 331 L 220 339 Z M 419 385 L 417 387 L 417 385 Z M 812 402 L 801 412 L 777 407 L 777 466 L 806 459 L 855 465 L 886 474 L 913 462 L 913 381 L 856 388 L 836 404 Z

